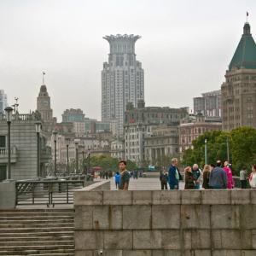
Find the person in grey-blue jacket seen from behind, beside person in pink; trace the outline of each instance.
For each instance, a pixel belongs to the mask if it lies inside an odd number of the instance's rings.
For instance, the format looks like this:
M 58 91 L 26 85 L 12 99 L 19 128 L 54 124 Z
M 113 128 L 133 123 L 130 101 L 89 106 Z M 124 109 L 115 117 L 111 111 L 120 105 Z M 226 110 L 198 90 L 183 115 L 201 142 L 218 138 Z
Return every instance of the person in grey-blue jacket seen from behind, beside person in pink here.
M 226 172 L 221 168 L 221 161 L 218 160 L 216 167 L 210 172 L 209 185 L 211 189 L 227 189 L 228 178 Z

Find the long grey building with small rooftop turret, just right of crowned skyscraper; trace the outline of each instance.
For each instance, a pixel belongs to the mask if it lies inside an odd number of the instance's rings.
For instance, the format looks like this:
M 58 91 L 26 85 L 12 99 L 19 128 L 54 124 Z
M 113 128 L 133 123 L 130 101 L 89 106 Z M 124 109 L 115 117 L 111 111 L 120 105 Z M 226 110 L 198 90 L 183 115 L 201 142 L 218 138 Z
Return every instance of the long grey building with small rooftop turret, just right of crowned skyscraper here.
M 143 100 L 138 101 L 137 108 L 127 104 L 125 112 L 125 158 L 145 163 L 145 137 L 152 134 L 157 125 L 177 127 L 180 120 L 189 113 L 189 108 L 145 107 Z M 168 149 L 167 149 L 168 150 Z

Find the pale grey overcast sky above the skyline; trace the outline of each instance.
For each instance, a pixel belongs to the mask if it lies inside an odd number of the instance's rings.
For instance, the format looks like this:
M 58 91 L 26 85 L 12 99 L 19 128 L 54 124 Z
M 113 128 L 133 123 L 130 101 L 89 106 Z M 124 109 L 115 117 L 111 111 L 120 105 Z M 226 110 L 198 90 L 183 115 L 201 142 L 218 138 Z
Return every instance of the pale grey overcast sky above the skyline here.
M 109 34 L 138 34 L 146 106 L 193 106 L 219 90 L 255 0 L 0 0 L 0 89 L 20 113 L 36 108 L 42 72 L 54 115 L 81 108 L 101 119 Z

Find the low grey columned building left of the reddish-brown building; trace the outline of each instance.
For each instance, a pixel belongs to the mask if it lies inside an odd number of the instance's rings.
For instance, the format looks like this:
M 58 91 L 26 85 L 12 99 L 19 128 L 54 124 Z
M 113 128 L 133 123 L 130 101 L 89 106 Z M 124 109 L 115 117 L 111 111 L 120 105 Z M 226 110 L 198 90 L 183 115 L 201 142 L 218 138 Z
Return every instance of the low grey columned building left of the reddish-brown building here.
M 148 165 L 159 166 L 160 160 L 178 154 L 178 129 L 177 126 L 156 125 L 151 133 L 144 137 L 145 160 Z

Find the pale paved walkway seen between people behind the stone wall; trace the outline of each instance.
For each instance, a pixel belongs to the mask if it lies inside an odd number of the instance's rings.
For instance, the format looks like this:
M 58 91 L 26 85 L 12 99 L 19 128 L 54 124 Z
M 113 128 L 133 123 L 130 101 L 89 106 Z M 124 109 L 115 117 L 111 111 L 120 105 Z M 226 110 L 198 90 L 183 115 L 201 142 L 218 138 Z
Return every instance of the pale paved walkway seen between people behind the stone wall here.
M 116 190 L 114 179 L 110 180 L 111 190 Z M 179 183 L 179 188 L 184 189 L 184 183 Z M 133 179 L 131 177 L 129 183 L 129 190 L 160 190 L 160 179 L 159 177 L 139 177 L 138 179 Z

